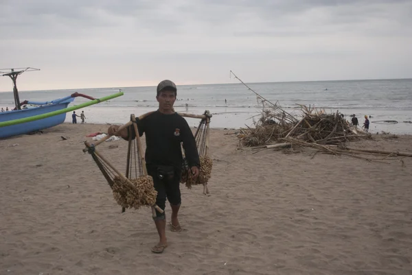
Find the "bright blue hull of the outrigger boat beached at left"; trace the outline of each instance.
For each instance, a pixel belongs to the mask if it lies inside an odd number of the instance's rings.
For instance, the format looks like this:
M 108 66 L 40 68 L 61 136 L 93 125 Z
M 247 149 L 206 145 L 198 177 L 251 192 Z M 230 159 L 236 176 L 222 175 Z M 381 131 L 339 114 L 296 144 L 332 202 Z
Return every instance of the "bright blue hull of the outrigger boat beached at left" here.
M 62 110 L 67 108 L 71 101 L 74 99 L 67 99 L 59 104 L 50 104 L 45 106 L 39 106 L 35 108 L 27 108 L 23 110 L 13 110 L 9 112 L 0 112 L 0 122 L 12 121 L 14 119 L 23 119 L 25 117 L 34 117 L 35 115 L 43 115 L 47 112 L 53 112 L 56 110 Z M 17 136 L 19 134 L 29 134 L 38 130 L 54 127 L 63 123 L 66 119 L 66 113 L 61 115 L 55 115 L 47 117 L 45 119 L 38 119 L 36 121 L 30 121 L 26 123 L 20 123 L 16 125 L 10 125 L 0 128 L 0 139 L 8 138 L 11 136 Z

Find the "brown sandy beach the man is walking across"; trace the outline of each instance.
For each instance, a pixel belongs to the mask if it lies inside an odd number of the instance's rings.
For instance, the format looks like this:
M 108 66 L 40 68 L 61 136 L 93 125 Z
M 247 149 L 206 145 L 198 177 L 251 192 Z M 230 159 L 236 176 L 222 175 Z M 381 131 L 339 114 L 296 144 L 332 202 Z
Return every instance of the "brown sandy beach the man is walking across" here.
M 65 123 L 0 141 L 0 274 L 412 274 L 412 158 L 253 154 L 211 130 L 210 195 L 181 185 L 184 231 L 153 254 L 150 208 L 121 213 L 82 152 L 106 130 Z M 412 152 L 412 136 L 350 146 Z M 126 141 L 98 149 L 124 171 Z

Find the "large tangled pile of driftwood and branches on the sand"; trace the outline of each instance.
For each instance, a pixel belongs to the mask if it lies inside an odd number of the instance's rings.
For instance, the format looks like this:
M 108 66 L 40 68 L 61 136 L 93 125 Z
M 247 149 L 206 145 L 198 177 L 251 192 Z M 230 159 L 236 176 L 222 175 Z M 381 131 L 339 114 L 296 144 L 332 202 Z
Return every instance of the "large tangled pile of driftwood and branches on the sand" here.
M 231 73 L 234 75 L 233 72 Z M 235 77 L 238 78 L 236 75 Z M 260 150 L 269 148 L 311 147 L 316 150 L 312 158 L 318 152 L 380 162 L 393 160 L 395 157 L 401 161 L 402 165 L 404 165 L 402 158 L 412 157 L 412 154 L 409 153 L 347 147 L 346 141 L 372 139 L 372 136 L 363 131 L 362 128 L 351 125 L 339 113 L 339 110 L 328 114 L 325 110 L 298 104 L 301 110 L 301 119 L 296 119 L 283 110 L 277 102 L 273 104 L 251 88 L 249 90 L 257 95 L 258 104 L 262 106 L 262 110 L 260 119 L 254 121 L 254 127 L 247 126 L 236 133 L 240 149 L 252 147 L 255 152 L 260 152 Z M 374 157 L 359 156 L 365 154 Z

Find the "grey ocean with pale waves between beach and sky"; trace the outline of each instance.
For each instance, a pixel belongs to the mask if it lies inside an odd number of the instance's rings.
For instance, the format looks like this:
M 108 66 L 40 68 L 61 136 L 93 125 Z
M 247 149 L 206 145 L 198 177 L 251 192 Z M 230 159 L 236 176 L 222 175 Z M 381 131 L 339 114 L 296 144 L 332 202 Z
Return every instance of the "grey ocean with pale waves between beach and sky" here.
M 365 115 L 371 116 L 371 132 L 391 132 L 412 134 L 412 79 L 404 80 L 347 80 L 322 82 L 274 82 L 247 84 L 253 91 L 273 103 L 278 102 L 284 110 L 299 117 L 297 104 L 323 108 L 326 112 L 339 112 L 345 119 L 355 114 L 361 125 Z M 126 123 L 130 114 L 136 116 L 157 109 L 155 87 L 115 87 L 87 88 L 57 91 L 22 91 L 21 101 L 49 101 L 65 97 L 71 93 L 83 93 L 95 98 L 117 93 L 124 95 L 83 108 L 87 123 Z M 14 108 L 13 95 L 0 93 L 0 108 Z M 244 128 L 253 126 L 253 117 L 258 118 L 260 108 L 256 95 L 233 80 L 233 84 L 205 84 L 178 86 L 174 108 L 178 112 L 203 114 L 209 110 L 212 128 Z M 225 102 L 226 100 L 226 102 Z M 77 97 L 74 105 L 88 101 Z M 69 106 L 73 106 L 70 104 Z M 76 111 L 80 113 L 82 110 Z M 70 114 L 67 122 L 71 122 Z M 198 120 L 187 119 L 190 126 L 198 125 Z M 383 121 L 398 121 L 385 123 Z

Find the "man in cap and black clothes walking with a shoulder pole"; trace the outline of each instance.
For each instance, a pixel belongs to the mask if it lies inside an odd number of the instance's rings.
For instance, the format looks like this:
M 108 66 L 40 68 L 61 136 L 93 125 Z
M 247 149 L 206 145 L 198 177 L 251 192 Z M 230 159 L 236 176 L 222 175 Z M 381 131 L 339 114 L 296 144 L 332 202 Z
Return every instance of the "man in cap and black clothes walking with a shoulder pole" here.
M 181 142 L 185 150 L 185 157 L 189 163 L 194 178 L 198 177 L 200 159 L 196 147 L 196 141 L 187 121 L 177 112 L 174 112 L 173 104 L 176 101 L 177 88 L 174 82 L 163 80 L 157 85 L 156 99 L 159 109 L 144 119 L 136 119 L 139 133 L 124 129 L 117 136 L 128 141 L 129 134 L 132 139 L 135 135 L 146 134 L 146 168 L 149 176 L 152 176 L 155 190 L 157 191 L 156 204 L 163 211 L 166 198 L 172 208 L 172 220 L 169 224 L 172 232 L 180 232 L 181 226 L 177 214 L 181 206 L 181 169 L 183 163 Z M 108 128 L 108 134 L 114 134 L 119 128 L 112 125 Z M 159 243 L 152 247 L 152 252 L 162 253 L 168 246 L 166 239 L 165 213 L 156 211 L 153 218 L 159 234 Z

